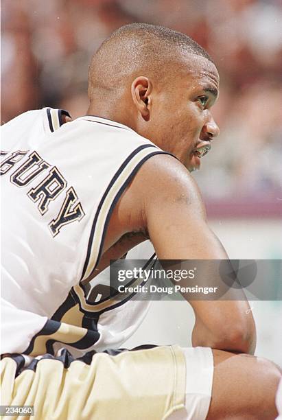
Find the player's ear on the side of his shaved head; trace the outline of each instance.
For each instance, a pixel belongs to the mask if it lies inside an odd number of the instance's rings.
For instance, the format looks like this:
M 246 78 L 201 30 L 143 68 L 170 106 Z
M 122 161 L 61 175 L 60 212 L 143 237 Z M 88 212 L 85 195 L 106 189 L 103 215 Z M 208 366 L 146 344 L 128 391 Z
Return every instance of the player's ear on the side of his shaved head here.
M 145 76 L 139 76 L 133 80 L 131 95 L 134 105 L 145 121 L 150 119 L 152 82 Z

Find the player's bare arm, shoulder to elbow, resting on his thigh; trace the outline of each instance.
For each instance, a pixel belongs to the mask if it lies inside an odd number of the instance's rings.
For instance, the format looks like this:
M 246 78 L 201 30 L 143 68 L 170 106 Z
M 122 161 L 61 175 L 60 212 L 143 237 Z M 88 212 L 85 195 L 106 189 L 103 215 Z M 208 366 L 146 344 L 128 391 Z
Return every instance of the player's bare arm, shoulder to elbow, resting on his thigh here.
M 135 185 L 143 196 L 143 218 L 159 259 L 228 259 L 207 224 L 198 187 L 185 167 L 169 155 L 154 156 Z M 218 285 L 220 273 L 208 270 L 204 284 Z M 185 296 L 186 297 L 186 296 Z M 255 324 L 246 316 L 242 290 L 228 290 L 228 301 L 190 301 L 196 315 L 193 345 L 253 351 Z

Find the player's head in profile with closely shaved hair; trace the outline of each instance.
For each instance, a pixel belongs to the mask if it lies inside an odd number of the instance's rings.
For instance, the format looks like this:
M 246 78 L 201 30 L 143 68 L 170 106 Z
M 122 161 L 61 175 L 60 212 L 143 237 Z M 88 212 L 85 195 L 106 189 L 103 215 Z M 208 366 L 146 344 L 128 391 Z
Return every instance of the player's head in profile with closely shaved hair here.
M 219 132 L 211 115 L 219 83 L 213 60 L 189 36 L 132 23 L 91 60 L 87 114 L 132 128 L 193 170 L 196 148 L 208 150 Z

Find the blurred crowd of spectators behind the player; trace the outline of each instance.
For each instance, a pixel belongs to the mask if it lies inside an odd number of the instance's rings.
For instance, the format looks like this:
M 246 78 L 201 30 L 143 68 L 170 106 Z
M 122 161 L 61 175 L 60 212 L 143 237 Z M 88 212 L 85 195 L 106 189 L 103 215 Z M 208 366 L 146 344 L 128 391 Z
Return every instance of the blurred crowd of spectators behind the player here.
M 208 207 L 211 202 L 208 210 L 277 215 L 282 205 L 281 0 L 1 3 L 2 124 L 43 106 L 83 115 L 89 60 L 100 43 L 126 23 L 165 25 L 198 41 L 220 71 L 214 115 L 221 135 L 195 175 Z

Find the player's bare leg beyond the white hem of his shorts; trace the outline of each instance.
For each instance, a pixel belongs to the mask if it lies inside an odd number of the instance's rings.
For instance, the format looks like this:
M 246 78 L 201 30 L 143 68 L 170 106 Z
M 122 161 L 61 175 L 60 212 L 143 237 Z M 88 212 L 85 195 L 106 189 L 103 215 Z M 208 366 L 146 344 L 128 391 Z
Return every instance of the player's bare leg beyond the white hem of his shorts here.
M 215 370 L 209 419 L 274 419 L 281 371 L 269 360 L 213 350 Z M 228 415 L 227 415 L 228 413 Z

